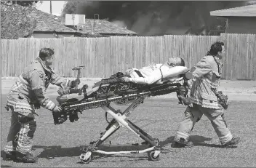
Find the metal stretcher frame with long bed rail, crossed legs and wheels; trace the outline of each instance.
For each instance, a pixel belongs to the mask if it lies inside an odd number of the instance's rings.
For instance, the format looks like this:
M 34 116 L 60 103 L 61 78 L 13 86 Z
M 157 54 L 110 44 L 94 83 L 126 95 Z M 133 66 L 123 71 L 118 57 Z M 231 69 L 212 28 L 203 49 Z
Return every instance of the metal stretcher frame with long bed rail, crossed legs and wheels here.
M 184 81 L 183 78 L 176 79 L 176 81 Z M 183 82 L 184 83 L 184 82 Z M 113 154 L 127 154 L 127 153 L 148 153 L 149 161 L 158 161 L 161 153 L 161 147 L 159 146 L 159 140 L 151 137 L 143 129 L 140 129 L 132 121 L 129 121 L 127 117 L 132 113 L 132 111 L 137 108 L 138 105 L 143 103 L 146 97 L 156 96 L 158 92 L 160 95 L 166 95 L 171 92 L 178 92 L 180 87 L 184 87 L 183 84 L 176 83 L 170 84 L 169 87 L 164 87 L 164 89 L 153 89 L 151 91 L 143 91 L 137 93 L 130 93 L 128 95 L 119 95 L 117 97 L 105 98 L 103 100 L 92 100 L 84 103 L 66 105 L 63 107 L 66 111 L 74 111 L 74 113 L 78 113 L 78 111 L 84 111 L 86 109 L 92 108 L 103 108 L 105 113 L 108 113 L 113 117 L 111 122 L 109 122 L 108 127 L 106 127 L 105 132 L 100 134 L 100 138 L 94 142 L 91 142 L 87 148 L 82 149 L 82 153 L 79 156 L 81 163 L 89 164 L 92 161 L 93 153 L 102 153 L 105 155 L 113 155 Z M 116 102 L 117 100 L 127 100 L 129 98 L 134 98 L 131 104 L 124 111 L 116 110 L 111 106 L 112 102 Z M 145 144 L 148 145 L 148 148 L 139 151 L 102 151 L 98 149 L 98 146 L 101 145 L 105 140 L 108 139 L 114 132 L 116 132 L 119 128 L 125 127 L 129 129 L 129 131 L 133 132 L 137 137 L 145 140 Z

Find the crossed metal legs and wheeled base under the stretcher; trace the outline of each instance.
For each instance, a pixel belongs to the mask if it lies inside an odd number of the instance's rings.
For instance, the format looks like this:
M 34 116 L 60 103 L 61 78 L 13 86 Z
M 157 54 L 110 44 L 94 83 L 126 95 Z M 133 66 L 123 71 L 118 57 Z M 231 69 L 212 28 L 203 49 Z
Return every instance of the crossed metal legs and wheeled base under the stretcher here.
M 160 147 L 159 147 L 159 140 L 154 139 L 147 133 L 145 133 L 142 129 L 137 127 L 135 124 L 133 124 L 131 121 L 127 119 L 127 116 L 132 113 L 132 111 L 135 110 L 137 105 L 143 102 L 145 97 L 137 97 L 137 99 L 129 105 L 129 107 L 121 113 L 121 111 L 116 111 L 114 108 L 111 107 L 111 105 L 103 106 L 102 108 L 111 116 L 113 116 L 112 121 L 110 124 L 108 124 L 108 127 L 106 128 L 105 132 L 102 133 L 100 136 L 100 139 L 96 142 L 92 143 L 92 146 L 85 149 L 84 153 L 81 154 L 80 160 L 83 163 L 89 163 L 89 161 L 92 160 L 92 153 L 103 153 L 103 154 L 125 154 L 125 153 L 148 153 L 148 159 L 149 160 L 158 160 L 159 159 L 159 153 L 160 153 Z M 97 149 L 97 146 L 103 143 L 108 137 L 110 137 L 114 132 L 116 132 L 117 129 L 120 127 L 126 127 L 131 132 L 133 132 L 137 137 L 142 138 L 147 143 L 149 143 L 149 148 L 146 148 L 142 151 L 118 151 L 118 152 L 106 152 L 106 151 L 100 151 Z

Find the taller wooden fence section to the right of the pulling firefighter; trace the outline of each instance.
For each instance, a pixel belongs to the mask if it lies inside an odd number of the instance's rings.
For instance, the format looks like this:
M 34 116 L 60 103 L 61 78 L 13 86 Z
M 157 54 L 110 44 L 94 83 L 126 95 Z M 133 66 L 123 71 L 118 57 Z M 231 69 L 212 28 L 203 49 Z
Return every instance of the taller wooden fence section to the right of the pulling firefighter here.
M 226 45 L 223 77 L 256 80 L 256 34 L 223 33 L 220 40 Z

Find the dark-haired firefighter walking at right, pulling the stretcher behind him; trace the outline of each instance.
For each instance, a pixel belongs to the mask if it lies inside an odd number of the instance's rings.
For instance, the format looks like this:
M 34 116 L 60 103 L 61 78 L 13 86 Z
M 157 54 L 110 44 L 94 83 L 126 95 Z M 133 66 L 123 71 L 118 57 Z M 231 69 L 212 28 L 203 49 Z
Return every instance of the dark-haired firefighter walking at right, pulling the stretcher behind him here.
M 225 54 L 223 42 L 212 44 L 207 56 L 203 57 L 191 71 L 193 82 L 191 94 L 188 98 L 188 107 L 185 110 L 183 121 L 177 129 L 173 148 L 192 147 L 190 132 L 203 114 L 207 116 L 215 129 L 223 147 L 231 147 L 241 141 L 240 137 L 234 137 L 224 119 L 225 105 L 221 105 L 217 90 L 220 86 L 220 77 L 223 64 L 221 59 Z M 224 108 L 223 108 L 224 107 Z

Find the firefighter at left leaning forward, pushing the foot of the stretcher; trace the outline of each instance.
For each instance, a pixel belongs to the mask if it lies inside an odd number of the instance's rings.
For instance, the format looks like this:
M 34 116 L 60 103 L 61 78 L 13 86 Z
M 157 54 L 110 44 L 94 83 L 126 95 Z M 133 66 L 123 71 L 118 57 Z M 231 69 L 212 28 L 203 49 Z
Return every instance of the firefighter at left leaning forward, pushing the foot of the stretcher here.
M 43 107 L 52 113 L 60 113 L 60 106 L 46 95 L 49 83 L 59 87 L 74 87 L 79 80 L 61 78 L 50 65 L 54 49 L 42 48 L 39 57 L 20 74 L 7 97 L 7 111 L 12 112 L 11 126 L 4 153 L 7 159 L 33 163 L 38 159 L 31 153 L 32 139 L 36 131 L 35 109 Z

